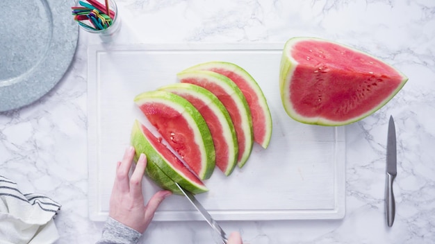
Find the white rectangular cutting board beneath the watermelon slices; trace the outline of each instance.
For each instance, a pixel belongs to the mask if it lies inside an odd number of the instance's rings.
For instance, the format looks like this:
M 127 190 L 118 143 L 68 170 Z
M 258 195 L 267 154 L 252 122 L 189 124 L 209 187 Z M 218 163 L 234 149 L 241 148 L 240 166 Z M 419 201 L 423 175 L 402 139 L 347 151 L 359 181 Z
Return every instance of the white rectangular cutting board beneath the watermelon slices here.
M 279 96 L 284 44 L 149 44 L 88 49 L 88 165 L 91 220 L 106 220 L 115 164 L 129 146 L 133 103 L 141 92 L 177 82 L 194 64 L 227 61 L 248 71 L 268 100 L 273 121 L 269 147 L 254 144 L 243 168 L 218 169 L 197 198 L 217 220 L 338 219 L 345 215 L 344 127 L 290 119 Z M 145 200 L 158 187 L 145 178 Z M 171 195 L 154 220 L 202 220 L 187 199 Z

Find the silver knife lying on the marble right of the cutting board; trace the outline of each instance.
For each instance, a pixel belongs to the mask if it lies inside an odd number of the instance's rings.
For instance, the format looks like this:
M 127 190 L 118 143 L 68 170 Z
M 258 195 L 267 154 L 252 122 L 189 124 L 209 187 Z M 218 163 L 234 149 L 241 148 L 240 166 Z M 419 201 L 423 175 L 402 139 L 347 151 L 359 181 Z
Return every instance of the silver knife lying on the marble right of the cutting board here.
M 388 137 L 386 141 L 386 186 L 385 213 L 388 227 L 393 226 L 395 216 L 395 200 L 393 194 L 393 180 L 397 175 L 397 150 L 395 141 L 395 126 L 393 116 L 388 122 Z

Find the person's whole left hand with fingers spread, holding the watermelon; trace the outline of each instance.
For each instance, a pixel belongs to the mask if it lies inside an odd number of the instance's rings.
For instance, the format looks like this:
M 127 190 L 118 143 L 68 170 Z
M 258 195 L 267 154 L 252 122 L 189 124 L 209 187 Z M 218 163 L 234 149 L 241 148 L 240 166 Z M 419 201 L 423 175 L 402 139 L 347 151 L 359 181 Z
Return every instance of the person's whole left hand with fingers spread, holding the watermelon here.
M 109 216 L 118 222 L 143 233 L 154 217 L 158 205 L 170 195 L 170 191 L 158 191 L 144 205 L 142 195 L 142 178 L 147 166 L 147 157 L 142 154 L 138 159 L 131 179 L 129 171 L 135 150 L 131 146 L 126 149 L 122 162 L 117 162 L 115 183 L 110 195 Z

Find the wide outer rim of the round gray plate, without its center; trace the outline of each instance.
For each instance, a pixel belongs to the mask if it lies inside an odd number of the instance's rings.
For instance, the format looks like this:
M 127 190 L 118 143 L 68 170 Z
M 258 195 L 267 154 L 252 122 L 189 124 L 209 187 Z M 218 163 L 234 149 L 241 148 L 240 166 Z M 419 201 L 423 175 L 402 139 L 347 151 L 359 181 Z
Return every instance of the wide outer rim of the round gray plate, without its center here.
M 31 105 L 49 93 L 63 78 L 76 53 L 79 26 L 68 11 L 60 11 L 69 6 L 68 1 L 42 0 L 42 5 L 50 18 L 49 46 L 37 65 L 13 78 L 20 80 L 0 87 L 0 113 Z M 47 72 L 47 68 L 53 71 Z

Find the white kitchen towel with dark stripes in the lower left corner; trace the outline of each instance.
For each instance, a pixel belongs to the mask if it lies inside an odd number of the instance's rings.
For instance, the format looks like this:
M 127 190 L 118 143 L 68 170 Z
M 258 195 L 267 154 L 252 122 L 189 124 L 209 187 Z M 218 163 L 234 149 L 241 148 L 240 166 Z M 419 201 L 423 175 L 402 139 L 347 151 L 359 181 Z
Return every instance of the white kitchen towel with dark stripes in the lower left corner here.
M 45 195 L 23 194 L 17 184 L 0 175 L 0 243 L 54 243 L 54 217 L 60 204 Z

